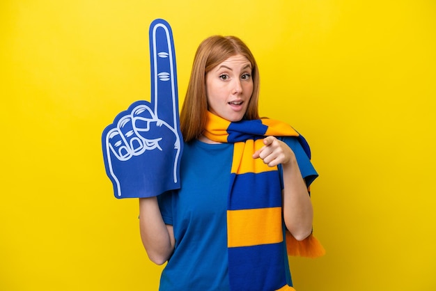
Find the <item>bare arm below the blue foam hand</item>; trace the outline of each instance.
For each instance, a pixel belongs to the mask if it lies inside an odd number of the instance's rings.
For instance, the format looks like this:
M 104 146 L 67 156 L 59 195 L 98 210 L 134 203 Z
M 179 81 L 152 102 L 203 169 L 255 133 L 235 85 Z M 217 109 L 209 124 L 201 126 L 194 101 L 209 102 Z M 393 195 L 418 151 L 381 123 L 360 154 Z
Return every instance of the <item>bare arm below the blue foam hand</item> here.
M 173 226 L 162 219 L 156 197 L 139 198 L 139 229 L 148 258 L 162 265 L 173 253 L 176 241 Z

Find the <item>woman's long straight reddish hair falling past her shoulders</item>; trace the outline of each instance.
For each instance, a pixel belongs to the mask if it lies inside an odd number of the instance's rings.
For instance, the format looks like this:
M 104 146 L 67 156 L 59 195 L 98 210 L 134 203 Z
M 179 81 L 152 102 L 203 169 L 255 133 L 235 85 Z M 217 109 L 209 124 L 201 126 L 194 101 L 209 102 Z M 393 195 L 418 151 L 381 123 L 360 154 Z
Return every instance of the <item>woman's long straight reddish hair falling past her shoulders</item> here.
M 210 36 L 198 46 L 192 65 L 191 77 L 180 112 L 180 129 L 183 139 L 188 142 L 198 139 L 206 124 L 208 102 L 206 97 L 205 75 L 231 56 L 240 54 L 251 63 L 253 93 L 244 119 L 259 118 L 259 73 L 256 60 L 247 45 L 235 36 Z

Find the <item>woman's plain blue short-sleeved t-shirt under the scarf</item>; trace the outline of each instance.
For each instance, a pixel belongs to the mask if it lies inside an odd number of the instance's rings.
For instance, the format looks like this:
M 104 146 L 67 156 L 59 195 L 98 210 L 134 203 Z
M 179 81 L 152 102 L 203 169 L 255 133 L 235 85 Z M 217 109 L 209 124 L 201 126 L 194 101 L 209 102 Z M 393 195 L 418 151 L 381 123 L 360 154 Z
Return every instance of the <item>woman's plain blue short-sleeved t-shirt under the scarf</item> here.
M 295 152 L 300 171 L 310 184 L 317 173 L 304 150 L 295 138 L 282 140 Z M 158 196 L 164 222 L 173 226 L 176 237 L 159 290 L 230 289 L 226 210 L 232 157 L 233 143 L 185 143 L 181 189 Z

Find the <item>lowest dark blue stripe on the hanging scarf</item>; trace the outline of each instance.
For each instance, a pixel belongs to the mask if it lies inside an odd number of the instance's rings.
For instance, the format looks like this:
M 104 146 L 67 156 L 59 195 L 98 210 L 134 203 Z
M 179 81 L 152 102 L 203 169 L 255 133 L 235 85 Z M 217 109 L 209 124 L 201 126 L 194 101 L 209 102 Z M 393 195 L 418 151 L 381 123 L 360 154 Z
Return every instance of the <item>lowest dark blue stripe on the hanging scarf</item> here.
M 283 244 L 228 249 L 228 276 L 232 290 L 277 290 L 286 285 Z M 278 255 L 281 253 L 281 255 Z M 265 269 L 265 264 L 270 266 Z M 247 281 L 247 274 L 250 280 Z

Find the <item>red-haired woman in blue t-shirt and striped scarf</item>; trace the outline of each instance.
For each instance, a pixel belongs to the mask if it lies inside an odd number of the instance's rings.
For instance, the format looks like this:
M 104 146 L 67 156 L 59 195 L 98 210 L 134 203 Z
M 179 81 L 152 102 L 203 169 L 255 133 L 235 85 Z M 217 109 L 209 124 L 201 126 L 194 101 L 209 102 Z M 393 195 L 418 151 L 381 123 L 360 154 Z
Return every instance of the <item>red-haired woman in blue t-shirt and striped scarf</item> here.
M 148 256 L 168 261 L 160 290 L 293 290 L 285 233 L 311 237 L 317 173 L 292 127 L 260 120 L 258 93 L 240 39 L 201 43 L 180 113 L 181 189 L 139 200 Z

